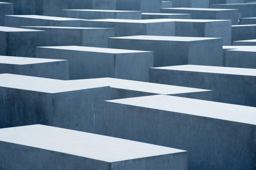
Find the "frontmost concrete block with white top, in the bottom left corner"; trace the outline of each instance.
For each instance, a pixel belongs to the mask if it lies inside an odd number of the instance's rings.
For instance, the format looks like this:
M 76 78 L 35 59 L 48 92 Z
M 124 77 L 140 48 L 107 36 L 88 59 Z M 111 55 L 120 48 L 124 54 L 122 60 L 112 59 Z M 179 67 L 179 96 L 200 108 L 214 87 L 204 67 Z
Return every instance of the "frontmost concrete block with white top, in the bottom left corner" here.
M 1 169 L 188 169 L 187 151 L 44 125 L 0 129 Z

